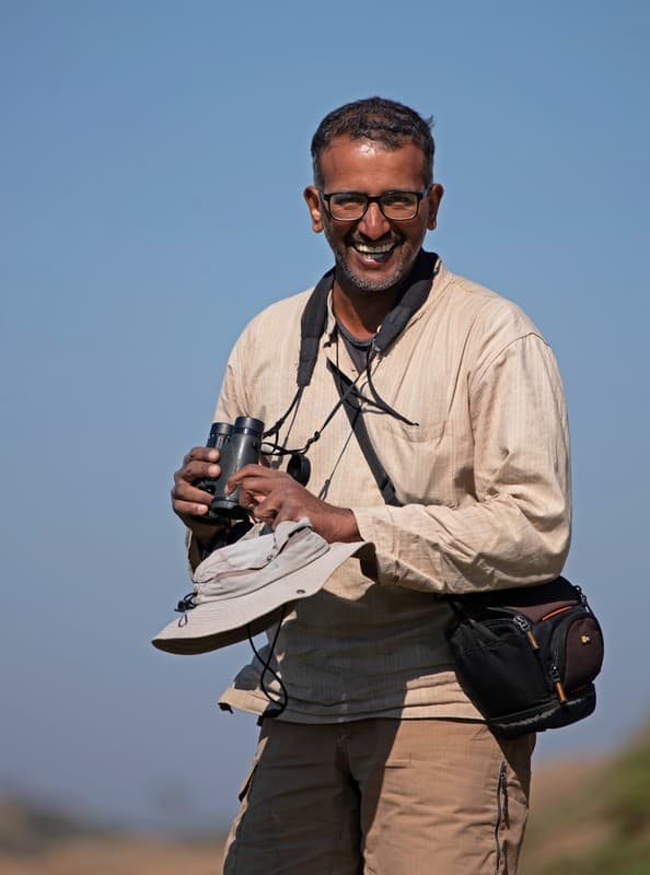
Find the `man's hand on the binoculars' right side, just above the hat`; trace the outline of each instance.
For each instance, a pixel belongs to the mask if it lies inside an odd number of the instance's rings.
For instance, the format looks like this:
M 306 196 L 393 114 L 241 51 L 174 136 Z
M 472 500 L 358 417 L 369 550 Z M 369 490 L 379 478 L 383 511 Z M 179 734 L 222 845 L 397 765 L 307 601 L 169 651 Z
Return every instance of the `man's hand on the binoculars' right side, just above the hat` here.
M 228 481 L 228 491 L 240 489 L 240 504 L 256 520 L 274 528 L 287 520 L 309 516 L 314 532 L 333 541 L 361 540 L 355 514 L 321 501 L 286 471 L 262 465 L 246 465 Z

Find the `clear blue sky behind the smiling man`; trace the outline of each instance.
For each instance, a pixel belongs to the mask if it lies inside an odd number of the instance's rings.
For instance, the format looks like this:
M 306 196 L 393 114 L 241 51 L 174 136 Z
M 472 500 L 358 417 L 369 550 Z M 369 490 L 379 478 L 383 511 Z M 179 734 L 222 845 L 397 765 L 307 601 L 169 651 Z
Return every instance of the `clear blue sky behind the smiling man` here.
M 222 824 L 254 720 L 214 701 L 245 648 L 154 651 L 188 584 L 169 509 L 225 357 L 330 264 L 301 192 L 322 116 L 436 117 L 428 246 L 516 301 L 558 357 L 567 572 L 601 615 L 597 713 L 650 712 L 649 8 L 642 2 L 0 2 L 0 785 L 120 822 Z

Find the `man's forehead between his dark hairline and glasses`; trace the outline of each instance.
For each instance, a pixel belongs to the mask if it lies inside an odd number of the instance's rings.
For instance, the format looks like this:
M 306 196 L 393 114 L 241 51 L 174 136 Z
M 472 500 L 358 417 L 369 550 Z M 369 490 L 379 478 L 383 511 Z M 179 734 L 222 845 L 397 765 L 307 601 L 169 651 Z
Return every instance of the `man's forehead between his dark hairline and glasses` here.
M 375 140 L 337 137 L 321 153 L 320 164 L 326 191 L 381 195 L 392 188 L 420 189 L 425 162 L 425 153 L 415 143 L 386 149 Z

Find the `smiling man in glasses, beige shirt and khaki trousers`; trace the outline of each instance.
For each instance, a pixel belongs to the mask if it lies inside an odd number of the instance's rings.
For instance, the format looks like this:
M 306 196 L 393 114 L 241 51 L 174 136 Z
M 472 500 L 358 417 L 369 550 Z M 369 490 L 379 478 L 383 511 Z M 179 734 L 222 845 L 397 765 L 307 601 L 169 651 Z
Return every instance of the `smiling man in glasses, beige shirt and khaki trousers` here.
M 283 420 L 281 445 L 309 447 L 307 488 L 274 467 L 231 478 L 254 518 L 309 516 L 330 542 L 371 541 L 375 561 L 348 560 L 266 651 L 287 700 L 263 722 L 224 872 L 513 873 L 533 738 L 497 739 L 460 689 L 441 596 L 560 572 L 570 500 L 557 366 L 515 305 L 422 250 L 443 189 L 417 113 L 379 97 L 348 104 L 321 122 L 312 154 L 304 198 L 336 262 L 318 285 L 328 296 L 313 375 L 297 393 L 305 292 L 245 329 L 216 419 Z M 195 447 L 175 475 L 193 563 L 214 535 L 196 520 L 210 495 L 194 482 L 218 476 L 218 462 Z M 254 660 L 223 707 L 268 714 L 259 675 Z M 264 686 L 277 698 L 277 682 Z

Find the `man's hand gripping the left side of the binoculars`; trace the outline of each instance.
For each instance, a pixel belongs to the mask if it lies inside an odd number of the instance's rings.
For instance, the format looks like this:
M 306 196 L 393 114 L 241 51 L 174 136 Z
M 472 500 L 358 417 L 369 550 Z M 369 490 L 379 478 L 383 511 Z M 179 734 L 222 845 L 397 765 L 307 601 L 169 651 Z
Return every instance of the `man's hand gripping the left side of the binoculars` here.
M 195 446 L 183 459 L 183 465 L 174 474 L 174 488 L 172 489 L 172 508 L 185 525 L 191 530 L 199 544 L 208 544 L 217 533 L 219 526 L 213 523 L 204 523 L 205 516 L 212 503 L 212 495 L 197 489 L 196 480 L 202 477 L 219 477 L 221 468 L 219 451 L 207 446 Z

